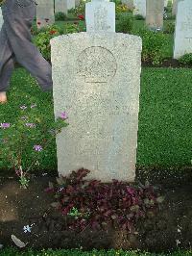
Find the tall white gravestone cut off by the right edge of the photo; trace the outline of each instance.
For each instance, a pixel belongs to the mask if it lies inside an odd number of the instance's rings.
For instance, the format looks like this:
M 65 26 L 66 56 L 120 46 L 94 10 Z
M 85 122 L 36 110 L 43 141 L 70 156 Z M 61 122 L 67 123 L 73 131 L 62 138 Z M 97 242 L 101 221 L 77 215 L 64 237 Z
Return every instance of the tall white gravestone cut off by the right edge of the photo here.
M 186 53 L 192 53 L 192 1 L 178 3 L 174 58 L 178 59 Z

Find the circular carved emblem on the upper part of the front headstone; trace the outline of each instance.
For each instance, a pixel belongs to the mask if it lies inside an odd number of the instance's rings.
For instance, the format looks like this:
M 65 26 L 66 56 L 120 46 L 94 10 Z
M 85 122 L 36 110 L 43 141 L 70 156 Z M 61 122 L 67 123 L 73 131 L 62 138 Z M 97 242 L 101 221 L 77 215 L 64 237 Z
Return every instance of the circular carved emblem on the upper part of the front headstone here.
M 110 51 L 104 47 L 92 46 L 84 49 L 77 60 L 78 75 L 85 83 L 107 83 L 117 70 L 117 63 Z

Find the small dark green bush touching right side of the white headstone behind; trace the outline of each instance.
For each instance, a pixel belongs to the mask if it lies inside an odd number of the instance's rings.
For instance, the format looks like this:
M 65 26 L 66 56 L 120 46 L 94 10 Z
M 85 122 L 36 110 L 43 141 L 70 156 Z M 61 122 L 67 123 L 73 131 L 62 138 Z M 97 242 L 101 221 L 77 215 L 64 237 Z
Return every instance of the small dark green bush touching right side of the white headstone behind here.
M 119 14 L 119 20 L 116 22 L 116 32 L 131 33 L 133 16 L 129 13 Z

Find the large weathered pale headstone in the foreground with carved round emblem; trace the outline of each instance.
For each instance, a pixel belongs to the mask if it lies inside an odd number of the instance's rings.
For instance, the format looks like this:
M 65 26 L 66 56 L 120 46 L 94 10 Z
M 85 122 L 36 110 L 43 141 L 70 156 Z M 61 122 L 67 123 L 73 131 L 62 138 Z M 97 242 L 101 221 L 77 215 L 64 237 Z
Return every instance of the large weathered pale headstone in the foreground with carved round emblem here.
M 78 33 L 51 40 L 60 174 L 84 167 L 89 178 L 132 181 L 135 175 L 141 39 Z

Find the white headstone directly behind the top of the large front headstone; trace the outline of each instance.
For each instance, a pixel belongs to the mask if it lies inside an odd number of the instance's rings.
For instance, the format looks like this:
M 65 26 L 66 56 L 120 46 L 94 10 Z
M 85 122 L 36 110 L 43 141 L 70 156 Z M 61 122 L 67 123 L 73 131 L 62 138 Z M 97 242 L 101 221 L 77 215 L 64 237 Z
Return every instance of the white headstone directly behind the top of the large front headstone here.
M 115 32 L 115 4 L 92 1 L 85 5 L 86 32 Z

